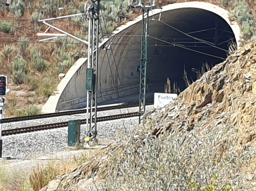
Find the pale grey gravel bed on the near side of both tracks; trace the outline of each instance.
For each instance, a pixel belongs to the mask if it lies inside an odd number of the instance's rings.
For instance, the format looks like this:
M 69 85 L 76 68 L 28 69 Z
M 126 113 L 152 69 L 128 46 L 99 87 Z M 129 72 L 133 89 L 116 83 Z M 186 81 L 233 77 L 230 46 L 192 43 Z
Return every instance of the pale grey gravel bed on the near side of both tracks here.
M 98 138 L 114 140 L 119 130 L 138 124 L 138 117 L 98 123 Z M 68 128 L 44 130 L 35 133 L 3 137 L 3 156 L 17 159 L 30 159 L 46 154 L 65 151 Z M 84 138 L 86 124 L 81 125 L 81 138 Z M 17 160 L 20 161 L 20 160 Z

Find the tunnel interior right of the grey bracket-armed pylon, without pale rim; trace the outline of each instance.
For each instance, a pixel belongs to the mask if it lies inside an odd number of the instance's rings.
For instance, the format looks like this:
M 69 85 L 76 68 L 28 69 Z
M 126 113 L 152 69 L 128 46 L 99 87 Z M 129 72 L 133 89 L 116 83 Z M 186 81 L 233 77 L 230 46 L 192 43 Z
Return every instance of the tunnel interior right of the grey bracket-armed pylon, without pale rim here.
M 204 63 L 212 68 L 227 57 L 229 45 L 236 44 L 230 25 L 211 11 L 181 8 L 163 12 L 160 21 L 159 17 L 150 17 L 147 102 L 153 102 L 154 92 L 164 93 L 167 77 L 171 93 L 174 81 L 183 91 L 184 69 L 188 79 L 195 81 L 192 68 L 201 70 Z M 138 22 L 111 39 L 112 50 L 100 51 L 99 105 L 138 103 L 140 33 Z

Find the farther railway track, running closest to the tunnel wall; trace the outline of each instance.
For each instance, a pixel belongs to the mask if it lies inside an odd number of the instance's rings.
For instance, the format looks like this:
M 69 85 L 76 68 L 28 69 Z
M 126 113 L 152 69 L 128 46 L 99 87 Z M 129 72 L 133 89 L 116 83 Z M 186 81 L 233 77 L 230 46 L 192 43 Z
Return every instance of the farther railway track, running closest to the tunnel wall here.
M 147 103 L 146 105 L 152 105 L 153 103 Z M 129 105 L 115 105 L 115 106 L 107 106 L 104 108 L 98 108 L 99 111 L 107 111 L 107 110 L 115 110 L 115 109 L 126 109 L 126 108 L 134 108 L 139 106 L 139 104 L 129 104 Z M 38 120 L 42 118 L 49 118 L 49 117 L 60 117 L 65 115 L 77 115 L 77 114 L 85 114 L 86 109 L 82 110 L 73 110 L 73 111 L 64 111 L 64 112 L 57 112 L 52 114 L 39 114 L 39 115 L 31 115 L 31 116 L 24 116 L 24 117 L 12 117 L 12 118 L 4 118 L 2 123 L 12 123 L 12 122 L 20 122 L 20 121 L 29 121 L 29 120 Z

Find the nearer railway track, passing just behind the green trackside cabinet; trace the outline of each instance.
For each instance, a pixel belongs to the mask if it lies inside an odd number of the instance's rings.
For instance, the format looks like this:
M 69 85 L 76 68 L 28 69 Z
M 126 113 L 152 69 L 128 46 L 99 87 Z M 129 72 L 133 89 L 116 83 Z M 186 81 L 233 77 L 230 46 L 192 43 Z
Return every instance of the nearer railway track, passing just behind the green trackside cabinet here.
M 118 114 L 118 115 L 112 115 L 112 116 L 98 117 L 97 122 L 120 120 L 122 118 L 130 118 L 130 117 L 138 117 L 138 116 L 139 116 L 138 112 L 129 113 L 129 114 Z M 8 129 L 8 130 L 2 131 L 2 136 L 16 135 L 16 134 L 30 133 L 30 132 L 38 132 L 39 130 L 63 128 L 63 127 L 67 127 L 68 123 L 69 122 L 60 122 L 60 123 L 44 124 L 44 125 L 40 125 L 40 126 Z M 81 120 L 81 124 L 86 124 L 86 119 Z

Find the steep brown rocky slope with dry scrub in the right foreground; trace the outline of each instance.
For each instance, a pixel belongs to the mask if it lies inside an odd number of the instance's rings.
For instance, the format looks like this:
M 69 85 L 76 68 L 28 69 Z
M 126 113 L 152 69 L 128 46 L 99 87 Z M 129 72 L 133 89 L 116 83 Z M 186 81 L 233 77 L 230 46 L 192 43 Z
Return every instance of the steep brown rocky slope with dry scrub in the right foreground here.
M 42 190 L 256 190 L 256 43 Z

